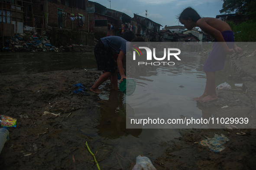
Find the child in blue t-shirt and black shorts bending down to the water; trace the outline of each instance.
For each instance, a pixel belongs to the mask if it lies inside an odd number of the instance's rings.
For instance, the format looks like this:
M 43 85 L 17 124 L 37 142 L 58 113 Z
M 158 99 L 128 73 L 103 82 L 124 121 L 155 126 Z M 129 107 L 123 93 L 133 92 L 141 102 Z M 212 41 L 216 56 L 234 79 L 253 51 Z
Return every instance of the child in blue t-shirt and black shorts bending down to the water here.
M 120 82 L 126 79 L 123 60 L 126 49 L 130 49 L 130 44 L 126 46 L 127 40 L 119 36 L 108 36 L 101 38 L 94 48 L 94 55 L 97 61 L 98 70 L 104 73 L 100 75 L 96 83 L 91 87 L 91 92 L 103 93 L 98 87 L 110 77 L 113 90 L 117 90 L 117 68 L 120 72 Z M 136 37 L 131 42 L 145 42 L 144 38 Z M 117 55 L 118 54 L 118 55 Z

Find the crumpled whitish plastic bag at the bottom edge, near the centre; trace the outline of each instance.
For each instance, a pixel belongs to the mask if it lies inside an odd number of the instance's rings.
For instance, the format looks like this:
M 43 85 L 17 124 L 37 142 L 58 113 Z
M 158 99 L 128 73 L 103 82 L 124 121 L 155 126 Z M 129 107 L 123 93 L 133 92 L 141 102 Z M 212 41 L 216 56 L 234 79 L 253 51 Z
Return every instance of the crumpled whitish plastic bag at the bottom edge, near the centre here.
M 136 157 L 136 164 L 134 165 L 133 170 L 156 170 L 156 168 L 148 157 L 139 155 Z

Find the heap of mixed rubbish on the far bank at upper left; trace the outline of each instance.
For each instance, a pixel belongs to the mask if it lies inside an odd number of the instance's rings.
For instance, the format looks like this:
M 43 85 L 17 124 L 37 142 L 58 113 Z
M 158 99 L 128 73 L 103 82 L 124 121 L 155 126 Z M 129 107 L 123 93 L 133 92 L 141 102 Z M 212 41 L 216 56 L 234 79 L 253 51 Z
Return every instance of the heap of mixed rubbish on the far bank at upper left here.
M 38 35 L 37 33 L 23 33 L 15 35 L 5 41 L 6 47 L 1 51 L 7 52 L 35 52 L 35 51 L 58 51 L 58 48 L 52 46 L 48 37 Z

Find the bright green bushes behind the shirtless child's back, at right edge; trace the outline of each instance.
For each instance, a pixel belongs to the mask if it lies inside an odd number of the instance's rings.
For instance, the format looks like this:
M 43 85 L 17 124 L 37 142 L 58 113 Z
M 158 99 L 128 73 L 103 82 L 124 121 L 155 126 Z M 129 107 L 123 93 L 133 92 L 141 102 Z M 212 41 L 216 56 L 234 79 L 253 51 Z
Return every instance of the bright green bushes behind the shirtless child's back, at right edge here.
M 230 24 L 230 23 L 229 23 Z M 233 23 L 231 22 L 231 25 Z M 233 28 L 232 28 L 233 27 Z M 232 26 L 236 42 L 256 42 L 256 22 L 249 20 Z

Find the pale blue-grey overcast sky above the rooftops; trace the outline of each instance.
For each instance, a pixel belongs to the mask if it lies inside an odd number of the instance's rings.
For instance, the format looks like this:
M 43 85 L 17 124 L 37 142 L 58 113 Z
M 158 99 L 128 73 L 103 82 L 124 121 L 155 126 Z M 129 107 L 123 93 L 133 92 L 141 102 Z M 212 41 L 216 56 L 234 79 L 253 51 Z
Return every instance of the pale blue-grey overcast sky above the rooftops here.
M 213 17 L 220 15 L 222 9 L 222 0 L 91 0 L 93 2 L 100 3 L 107 8 L 121 11 L 126 13 L 130 17 L 133 17 L 133 13 L 140 16 L 151 19 L 152 21 L 159 23 L 163 27 L 178 26 L 176 19 L 186 7 L 191 6 L 202 17 Z M 183 25 L 182 25 L 183 26 Z M 160 27 L 162 29 L 163 27 Z

